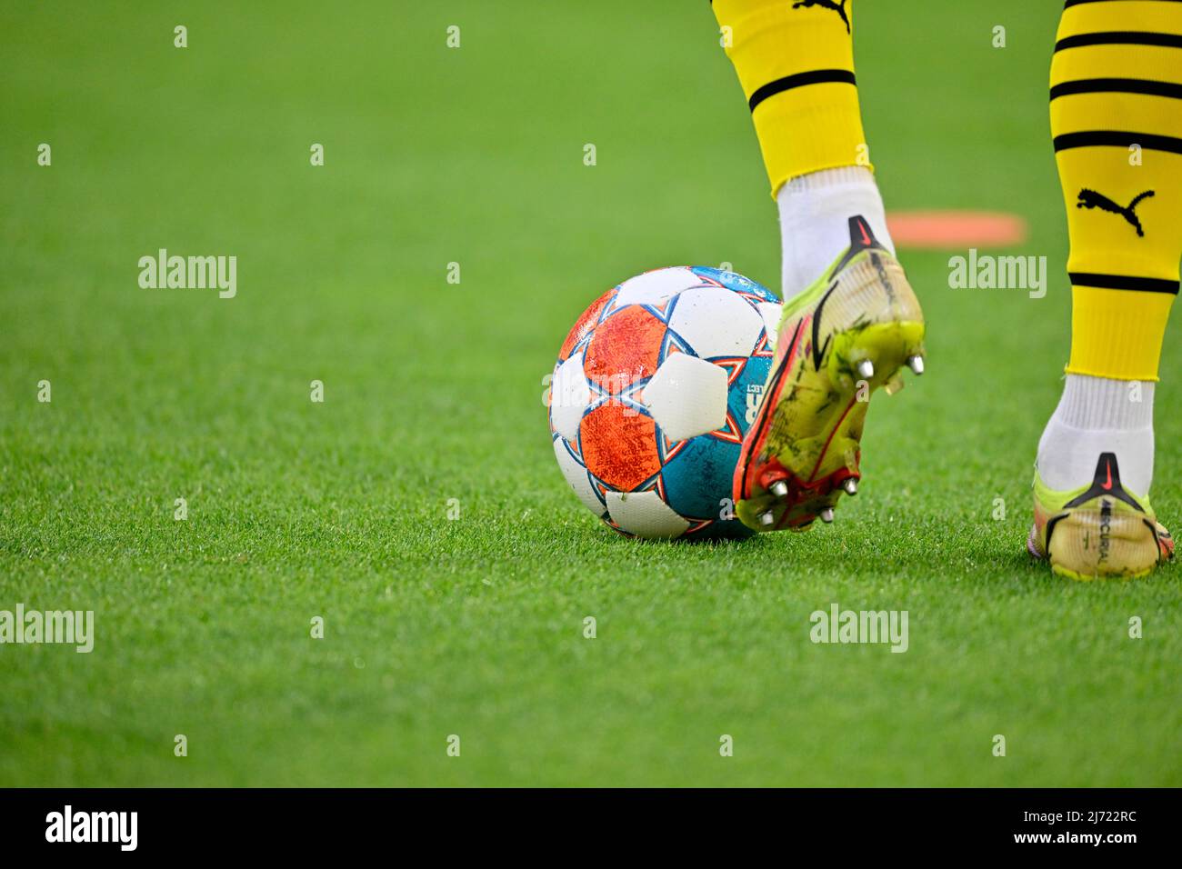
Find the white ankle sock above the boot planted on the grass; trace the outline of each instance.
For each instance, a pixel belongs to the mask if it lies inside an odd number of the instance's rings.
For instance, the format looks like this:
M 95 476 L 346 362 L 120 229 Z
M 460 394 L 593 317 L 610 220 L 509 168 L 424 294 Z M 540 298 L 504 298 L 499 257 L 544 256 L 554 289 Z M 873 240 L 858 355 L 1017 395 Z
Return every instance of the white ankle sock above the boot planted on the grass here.
M 1038 443 L 1043 482 L 1063 492 L 1086 486 L 1100 453 L 1116 453 L 1121 482 L 1135 495 L 1154 480 L 1154 383 L 1067 375 L 1059 407 Z

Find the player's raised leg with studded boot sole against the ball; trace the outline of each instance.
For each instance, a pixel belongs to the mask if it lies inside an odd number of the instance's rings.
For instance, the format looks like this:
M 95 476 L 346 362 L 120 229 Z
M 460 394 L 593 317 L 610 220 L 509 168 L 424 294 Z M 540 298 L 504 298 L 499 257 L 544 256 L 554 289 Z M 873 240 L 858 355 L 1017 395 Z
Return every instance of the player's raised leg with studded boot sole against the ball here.
M 831 520 L 857 491 L 870 393 L 922 371 L 923 316 L 869 167 L 847 0 L 714 0 L 784 241 L 784 319 L 735 474 L 761 531 Z

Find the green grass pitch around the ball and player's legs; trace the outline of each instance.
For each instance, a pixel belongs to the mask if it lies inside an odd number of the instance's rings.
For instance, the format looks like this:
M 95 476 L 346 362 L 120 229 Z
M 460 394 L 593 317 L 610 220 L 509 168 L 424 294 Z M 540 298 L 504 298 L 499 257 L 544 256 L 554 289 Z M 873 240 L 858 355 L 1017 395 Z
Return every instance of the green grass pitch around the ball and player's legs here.
M 0 785 L 1182 784 L 1176 571 L 1071 584 L 1024 551 L 1070 337 L 1057 19 L 858 5 L 888 206 L 1022 215 L 1050 290 L 903 251 L 929 370 L 875 398 L 862 494 L 669 545 L 577 502 L 541 381 L 634 273 L 778 287 L 706 2 L 5 5 L 0 609 L 95 610 L 96 641 L 0 647 Z M 141 288 L 161 247 L 236 255 L 236 297 Z M 833 602 L 908 610 L 910 649 L 812 644 Z

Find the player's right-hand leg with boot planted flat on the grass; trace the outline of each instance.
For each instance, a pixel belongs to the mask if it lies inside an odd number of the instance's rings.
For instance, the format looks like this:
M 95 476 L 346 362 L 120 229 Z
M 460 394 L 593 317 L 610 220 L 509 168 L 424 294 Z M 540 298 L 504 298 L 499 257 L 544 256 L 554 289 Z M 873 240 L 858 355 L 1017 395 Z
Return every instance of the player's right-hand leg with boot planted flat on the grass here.
M 1067 576 L 1136 576 L 1173 553 L 1148 495 L 1182 255 L 1182 4 L 1067 4 L 1051 132 L 1071 240 L 1071 358 L 1039 442 L 1027 545 Z

